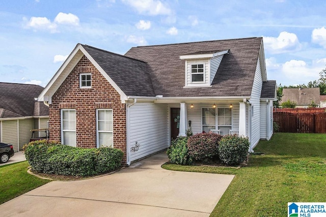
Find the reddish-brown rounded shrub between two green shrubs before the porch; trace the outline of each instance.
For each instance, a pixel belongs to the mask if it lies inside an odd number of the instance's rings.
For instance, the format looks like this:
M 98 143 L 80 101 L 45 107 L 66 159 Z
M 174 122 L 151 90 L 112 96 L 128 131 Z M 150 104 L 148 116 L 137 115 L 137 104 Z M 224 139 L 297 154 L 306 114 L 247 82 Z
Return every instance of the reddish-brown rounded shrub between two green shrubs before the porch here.
M 215 133 L 198 133 L 189 137 L 187 142 L 189 157 L 199 161 L 207 161 L 218 156 L 221 138 L 220 134 Z

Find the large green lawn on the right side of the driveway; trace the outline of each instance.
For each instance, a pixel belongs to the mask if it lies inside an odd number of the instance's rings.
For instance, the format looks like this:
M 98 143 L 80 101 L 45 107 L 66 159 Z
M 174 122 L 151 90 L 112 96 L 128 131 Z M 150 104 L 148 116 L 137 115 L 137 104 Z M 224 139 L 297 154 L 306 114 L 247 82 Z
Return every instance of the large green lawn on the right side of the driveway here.
M 234 174 L 211 216 L 287 216 L 288 202 L 325 202 L 326 134 L 277 133 L 240 169 L 165 164 L 170 170 Z

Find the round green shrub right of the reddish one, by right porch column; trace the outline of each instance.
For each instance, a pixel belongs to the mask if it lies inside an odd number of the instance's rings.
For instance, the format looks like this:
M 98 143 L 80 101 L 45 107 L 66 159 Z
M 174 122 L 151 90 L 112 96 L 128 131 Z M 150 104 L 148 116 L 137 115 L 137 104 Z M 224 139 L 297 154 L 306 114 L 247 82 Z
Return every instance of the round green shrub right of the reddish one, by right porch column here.
M 250 142 L 247 137 L 226 135 L 219 143 L 220 160 L 227 165 L 237 165 L 247 159 Z

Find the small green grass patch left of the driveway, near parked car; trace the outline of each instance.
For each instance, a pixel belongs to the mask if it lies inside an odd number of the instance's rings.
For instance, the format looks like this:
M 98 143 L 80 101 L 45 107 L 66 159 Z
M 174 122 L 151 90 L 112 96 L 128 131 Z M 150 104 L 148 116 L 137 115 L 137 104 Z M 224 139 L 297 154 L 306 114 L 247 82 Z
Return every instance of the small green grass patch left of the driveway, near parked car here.
M 27 161 L 0 166 L 0 204 L 50 181 L 27 173 L 29 166 Z

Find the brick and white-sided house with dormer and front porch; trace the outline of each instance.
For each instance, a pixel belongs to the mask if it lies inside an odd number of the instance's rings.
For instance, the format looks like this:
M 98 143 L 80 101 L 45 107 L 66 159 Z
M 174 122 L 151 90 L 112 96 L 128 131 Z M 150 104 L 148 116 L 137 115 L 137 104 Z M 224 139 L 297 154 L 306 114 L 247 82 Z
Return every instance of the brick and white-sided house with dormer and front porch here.
M 273 134 L 274 100 L 262 38 L 141 46 L 125 55 L 77 44 L 38 97 L 49 105 L 50 139 L 120 148 L 127 165 L 189 127 L 248 136 L 252 151 Z

